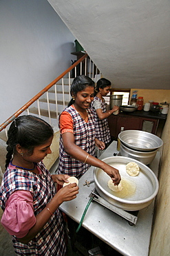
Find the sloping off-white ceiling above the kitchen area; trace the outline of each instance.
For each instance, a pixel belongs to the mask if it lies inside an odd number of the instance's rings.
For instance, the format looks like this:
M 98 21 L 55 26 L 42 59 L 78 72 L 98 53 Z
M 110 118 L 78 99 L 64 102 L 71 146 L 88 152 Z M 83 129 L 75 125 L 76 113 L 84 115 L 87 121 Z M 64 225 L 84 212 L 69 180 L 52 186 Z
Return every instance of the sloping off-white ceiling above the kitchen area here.
M 112 86 L 170 89 L 169 0 L 48 0 Z

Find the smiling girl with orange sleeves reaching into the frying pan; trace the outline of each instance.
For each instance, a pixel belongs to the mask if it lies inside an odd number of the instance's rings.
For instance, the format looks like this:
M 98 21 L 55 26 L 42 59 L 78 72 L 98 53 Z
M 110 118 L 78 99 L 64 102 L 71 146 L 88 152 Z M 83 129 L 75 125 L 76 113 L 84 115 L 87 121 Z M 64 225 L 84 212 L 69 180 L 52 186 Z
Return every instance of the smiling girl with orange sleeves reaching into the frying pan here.
M 79 75 L 74 78 L 70 93 L 72 100 L 59 118 L 61 138 L 58 173 L 79 179 L 93 165 L 103 169 L 118 185 L 118 170 L 94 157 L 95 145 L 99 149 L 105 148 L 105 143 L 96 138 L 94 114 L 89 108 L 94 99 L 94 81 L 86 75 Z

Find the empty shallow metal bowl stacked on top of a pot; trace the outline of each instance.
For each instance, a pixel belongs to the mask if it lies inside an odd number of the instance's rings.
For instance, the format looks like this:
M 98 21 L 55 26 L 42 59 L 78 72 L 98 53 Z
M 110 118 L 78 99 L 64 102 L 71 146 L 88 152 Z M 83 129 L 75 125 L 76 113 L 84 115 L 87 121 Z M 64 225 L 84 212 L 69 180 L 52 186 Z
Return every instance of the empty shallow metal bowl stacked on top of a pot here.
M 126 147 L 142 152 L 153 151 L 163 145 L 161 138 L 147 131 L 126 130 L 120 132 L 118 138 Z

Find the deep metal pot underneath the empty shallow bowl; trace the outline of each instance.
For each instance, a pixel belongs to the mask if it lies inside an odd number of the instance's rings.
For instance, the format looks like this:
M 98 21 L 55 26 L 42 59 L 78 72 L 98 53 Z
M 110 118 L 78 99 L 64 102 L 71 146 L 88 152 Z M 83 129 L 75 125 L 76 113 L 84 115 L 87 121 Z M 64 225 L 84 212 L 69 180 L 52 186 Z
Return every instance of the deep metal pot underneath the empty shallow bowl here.
M 142 151 L 137 151 L 134 149 L 129 149 L 129 147 L 126 147 L 122 143 L 120 144 L 120 155 L 121 156 L 127 156 L 134 158 L 141 163 L 144 163 L 145 165 L 149 165 L 153 159 L 156 157 L 156 152 L 158 149 L 155 149 L 153 151 L 147 151 L 147 152 L 142 152 Z

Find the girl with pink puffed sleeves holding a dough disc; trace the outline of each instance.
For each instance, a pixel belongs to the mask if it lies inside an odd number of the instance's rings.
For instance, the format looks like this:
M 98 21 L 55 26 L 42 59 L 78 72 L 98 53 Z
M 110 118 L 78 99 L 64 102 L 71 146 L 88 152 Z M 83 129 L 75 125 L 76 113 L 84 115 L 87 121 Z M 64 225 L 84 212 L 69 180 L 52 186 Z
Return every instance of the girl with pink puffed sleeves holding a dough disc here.
M 43 158 L 51 153 L 53 129 L 35 116 L 20 116 L 8 131 L 6 172 L 0 188 L 1 223 L 17 255 L 66 255 L 59 205 L 76 198 L 76 183 L 56 192 L 68 175 L 51 175 Z

